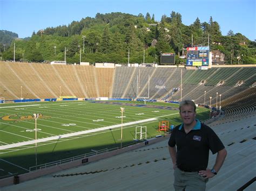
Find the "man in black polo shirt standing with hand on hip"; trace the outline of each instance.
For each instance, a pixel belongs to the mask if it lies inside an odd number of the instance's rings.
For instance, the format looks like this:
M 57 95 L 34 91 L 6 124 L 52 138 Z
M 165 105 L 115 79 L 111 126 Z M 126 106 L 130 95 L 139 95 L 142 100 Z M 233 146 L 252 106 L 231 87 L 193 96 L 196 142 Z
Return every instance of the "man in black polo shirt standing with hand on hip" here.
M 196 119 L 193 101 L 181 102 L 179 114 L 183 123 L 174 128 L 168 142 L 174 169 L 173 186 L 175 190 L 205 190 L 208 179 L 223 165 L 227 151 L 216 133 Z M 207 168 L 210 150 L 218 153 L 211 169 Z

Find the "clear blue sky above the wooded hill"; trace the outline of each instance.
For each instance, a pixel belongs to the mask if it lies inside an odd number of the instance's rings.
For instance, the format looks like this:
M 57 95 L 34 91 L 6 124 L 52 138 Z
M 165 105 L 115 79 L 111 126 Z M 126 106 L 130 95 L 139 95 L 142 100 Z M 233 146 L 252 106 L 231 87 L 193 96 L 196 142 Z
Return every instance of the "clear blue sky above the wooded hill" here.
M 46 27 L 69 25 L 97 13 L 123 12 L 132 15 L 149 12 L 157 21 L 172 11 L 182 16 L 185 25 L 196 18 L 213 21 L 228 31 L 256 39 L 256 0 L 0 0 L 0 30 L 15 32 L 19 38 L 31 37 Z

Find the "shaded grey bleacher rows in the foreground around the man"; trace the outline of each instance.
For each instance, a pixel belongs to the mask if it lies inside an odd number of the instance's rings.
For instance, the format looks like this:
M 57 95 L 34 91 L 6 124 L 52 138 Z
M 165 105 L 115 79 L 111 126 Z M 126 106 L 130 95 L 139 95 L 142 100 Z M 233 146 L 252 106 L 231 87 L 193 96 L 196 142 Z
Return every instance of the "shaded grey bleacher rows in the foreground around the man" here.
M 255 176 L 255 112 L 246 117 L 224 117 L 208 125 L 223 141 L 228 154 L 206 190 L 237 190 Z M 167 140 L 1 190 L 34 190 L 35 186 L 41 190 L 174 190 Z M 209 168 L 215 157 L 210 152 Z M 255 184 L 246 190 L 255 190 Z

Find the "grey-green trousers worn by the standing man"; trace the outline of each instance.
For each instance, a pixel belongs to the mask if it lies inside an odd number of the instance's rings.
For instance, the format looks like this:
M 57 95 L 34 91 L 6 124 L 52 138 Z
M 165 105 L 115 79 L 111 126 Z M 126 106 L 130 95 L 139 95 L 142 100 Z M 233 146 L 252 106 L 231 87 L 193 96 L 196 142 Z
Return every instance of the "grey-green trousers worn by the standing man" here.
M 184 172 L 179 168 L 174 170 L 174 189 L 178 190 L 205 190 L 206 182 L 208 179 L 204 179 L 198 174 L 198 172 Z

